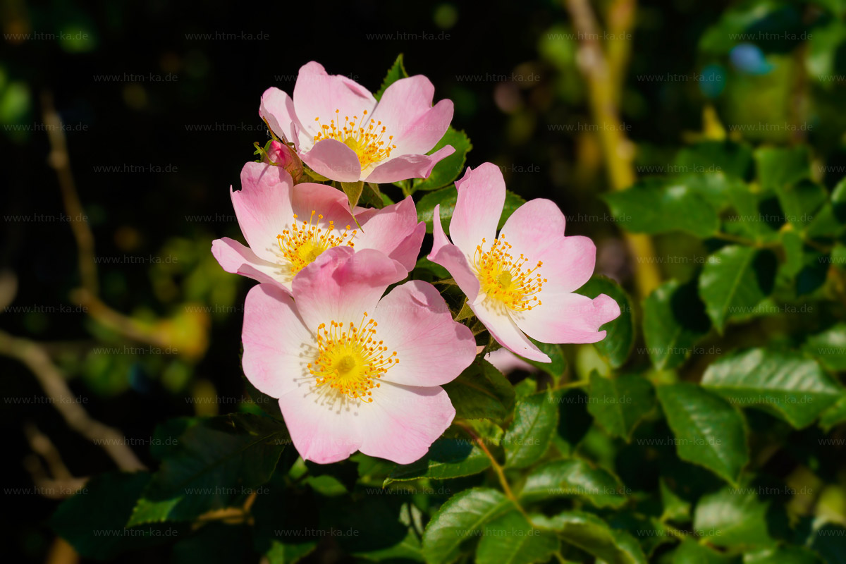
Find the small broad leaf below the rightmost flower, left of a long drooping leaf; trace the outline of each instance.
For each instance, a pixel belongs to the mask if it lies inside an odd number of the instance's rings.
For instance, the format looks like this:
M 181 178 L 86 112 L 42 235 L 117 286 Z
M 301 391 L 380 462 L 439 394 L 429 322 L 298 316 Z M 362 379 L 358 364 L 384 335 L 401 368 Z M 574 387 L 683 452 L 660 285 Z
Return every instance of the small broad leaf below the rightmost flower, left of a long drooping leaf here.
M 608 435 L 631 441 L 632 431 L 655 405 L 655 392 L 642 376 L 605 378 L 591 372 L 588 412 Z

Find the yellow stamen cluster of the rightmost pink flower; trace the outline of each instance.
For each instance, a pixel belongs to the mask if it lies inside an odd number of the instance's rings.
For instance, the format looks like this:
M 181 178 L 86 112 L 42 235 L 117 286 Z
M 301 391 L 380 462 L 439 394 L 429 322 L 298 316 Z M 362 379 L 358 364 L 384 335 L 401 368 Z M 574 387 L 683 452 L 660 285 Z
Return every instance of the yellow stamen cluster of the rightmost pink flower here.
M 482 250 L 484 238 L 481 243 L 476 246 L 473 255 L 473 266 L 481 291 L 515 311 L 526 311 L 541 305 L 537 294 L 547 279 L 541 278 L 537 271 L 543 263 L 538 260 L 535 268 L 523 271 L 528 259 L 520 253 L 514 260 L 510 252 L 511 244 L 506 242 L 503 234 L 494 240 L 491 249 L 486 252 Z

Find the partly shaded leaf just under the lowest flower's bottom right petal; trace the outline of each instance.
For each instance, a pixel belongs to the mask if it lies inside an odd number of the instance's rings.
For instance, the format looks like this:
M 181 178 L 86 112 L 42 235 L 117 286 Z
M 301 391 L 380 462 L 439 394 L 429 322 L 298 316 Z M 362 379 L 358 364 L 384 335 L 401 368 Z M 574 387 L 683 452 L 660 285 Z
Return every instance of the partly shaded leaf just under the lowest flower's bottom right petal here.
M 399 465 L 385 480 L 431 478 L 448 479 L 479 474 L 491 466 L 491 459 L 472 439 L 442 437 L 432 443 L 425 457 L 411 464 Z

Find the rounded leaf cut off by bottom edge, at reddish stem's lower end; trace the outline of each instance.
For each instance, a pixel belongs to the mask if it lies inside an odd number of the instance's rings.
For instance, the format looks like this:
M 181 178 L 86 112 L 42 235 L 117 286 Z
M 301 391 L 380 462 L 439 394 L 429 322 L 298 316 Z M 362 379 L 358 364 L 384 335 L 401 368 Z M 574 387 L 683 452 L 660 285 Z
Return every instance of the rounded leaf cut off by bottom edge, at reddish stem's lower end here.
M 544 562 L 558 550 L 558 538 L 531 526 L 518 512 L 508 512 L 485 524 L 476 548 L 476 564 Z

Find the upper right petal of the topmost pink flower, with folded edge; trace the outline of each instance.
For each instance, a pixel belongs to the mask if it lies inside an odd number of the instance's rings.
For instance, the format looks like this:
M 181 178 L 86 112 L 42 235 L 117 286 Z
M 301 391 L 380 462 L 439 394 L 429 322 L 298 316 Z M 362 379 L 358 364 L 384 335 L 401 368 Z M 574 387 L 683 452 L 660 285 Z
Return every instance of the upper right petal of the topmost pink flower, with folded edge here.
M 386 136 L 393 135 L 391 142 L 397 145 L 393 154 L 425 154 L 447 133 L 453 102 L 442 100 L 432 107 L 434 97 L 435 87 L 420 74 L 387 87 L 372 118 L 382 122 Z

